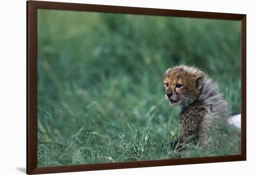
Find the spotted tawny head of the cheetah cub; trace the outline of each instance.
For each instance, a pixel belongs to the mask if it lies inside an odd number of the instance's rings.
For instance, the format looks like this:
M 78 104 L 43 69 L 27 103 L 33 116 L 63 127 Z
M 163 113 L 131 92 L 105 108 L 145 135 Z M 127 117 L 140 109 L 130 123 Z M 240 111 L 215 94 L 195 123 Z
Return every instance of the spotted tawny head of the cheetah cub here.
M 201 93 L 204 74 L 185 65 L 167 69 L 163 76 L 165 97 L 171 106 L 188 106 Z

